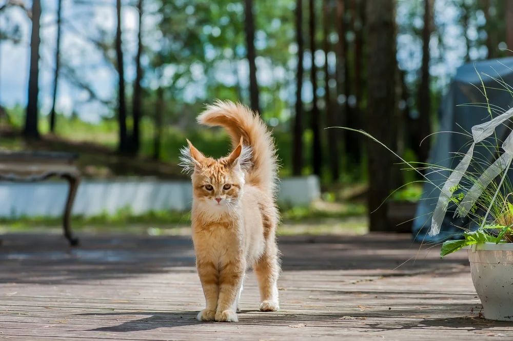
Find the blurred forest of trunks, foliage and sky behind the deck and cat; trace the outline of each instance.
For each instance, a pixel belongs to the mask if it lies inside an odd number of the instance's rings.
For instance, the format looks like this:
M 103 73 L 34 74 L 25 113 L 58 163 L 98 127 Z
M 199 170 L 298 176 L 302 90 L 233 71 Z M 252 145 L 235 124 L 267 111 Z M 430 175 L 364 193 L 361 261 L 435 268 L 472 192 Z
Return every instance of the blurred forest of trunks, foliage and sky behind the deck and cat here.
M 363 184 L 374 209 L 415 178 L 325 128 L 424 162 L 456 68 L 507 47 L 513 0 L 2 0 L 0 148 L 78 152 L 92 177 L 181 178 L 186 137 L 226 154 L 195 116 L 231 99 L 272 127 L 281 176 Z

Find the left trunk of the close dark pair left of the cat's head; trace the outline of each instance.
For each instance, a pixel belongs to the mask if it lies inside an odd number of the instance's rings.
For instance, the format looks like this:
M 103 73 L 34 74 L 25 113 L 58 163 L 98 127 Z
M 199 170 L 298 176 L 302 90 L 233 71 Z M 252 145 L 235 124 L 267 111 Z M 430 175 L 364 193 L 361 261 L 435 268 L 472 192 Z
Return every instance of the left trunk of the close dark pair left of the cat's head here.
M 121 0 L 116 0 L 116 60 L 117 60 L 117 73 L 119 77 L 119 101 L 117 108 L 117 119 L 120 125 L 120 141 L 118 151 L 120 153 L 127 153 L 129 151 L 128 146 L 128 134 L 127 134 L 127 108 L 125 99 L 125 68 L 123 63 L 123 49 L 121 43 Z

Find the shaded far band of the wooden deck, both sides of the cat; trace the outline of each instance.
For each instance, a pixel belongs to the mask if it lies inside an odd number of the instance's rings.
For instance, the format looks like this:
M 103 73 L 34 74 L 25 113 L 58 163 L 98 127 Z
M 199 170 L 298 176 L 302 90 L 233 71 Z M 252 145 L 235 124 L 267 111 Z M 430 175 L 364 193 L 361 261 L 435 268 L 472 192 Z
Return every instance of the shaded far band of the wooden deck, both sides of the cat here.
M 0 283 L 62 284 L 138 274 L 193 271 L 188 236 L 84 235 L 69 248 L 54 234 L 10 233 L 0 245 Z M 372 276 L 468 271 L 466 255 L 440 259 L 439 247 L 410 235 L 281 236 L 284 271 L 355 270 Z

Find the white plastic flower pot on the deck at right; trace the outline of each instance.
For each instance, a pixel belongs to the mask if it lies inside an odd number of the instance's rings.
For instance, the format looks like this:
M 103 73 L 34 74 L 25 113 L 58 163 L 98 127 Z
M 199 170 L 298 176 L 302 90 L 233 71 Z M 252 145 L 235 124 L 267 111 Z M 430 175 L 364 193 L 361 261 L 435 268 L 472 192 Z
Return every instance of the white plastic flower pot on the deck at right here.
M 513 244 L 475 244 L 466 249 L 484 317 L 513 321 Z

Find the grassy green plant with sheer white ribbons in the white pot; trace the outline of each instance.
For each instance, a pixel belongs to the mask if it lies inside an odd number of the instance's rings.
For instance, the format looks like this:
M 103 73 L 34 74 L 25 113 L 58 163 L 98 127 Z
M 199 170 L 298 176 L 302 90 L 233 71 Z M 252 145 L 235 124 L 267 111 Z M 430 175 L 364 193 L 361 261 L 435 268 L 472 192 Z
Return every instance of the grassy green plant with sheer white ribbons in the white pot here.
M 374 142 L 379 143 L 400 158 L 410 170 L 419 173 L 425 179 L 423 181 L 429 182 L 440 190 L 437 207 L 432 212 L 431 229 L 429 231 L 431 236 L 437 235 L 440 232 L 440 227 L 449 205 L 455 209 L 455 215 L 468 217 L 477 223 L 479 228 L 476 231 L 463 232 L 463 240 L 446 240 L 442 245 L 440 253 L 442 257 L 473 244 L 513 243 L 513 203 L 510 201 L 510 194 L 513 194 L 513 186 L 508 178 L 508 171 L 513 161 L 513 132 L 510 132 L 504 141 L 500 141 L 495 133 L 498 126 L 513 118 L 513 109 L 509 109 L 495 117 L 492 115 L 490 106 L 493 107 L 494 112 L 497 112 L 500 108 L 490 105 L 481 75 L 491 77 L 505 91 L 509 92 L 511 96 L 513 96 L 513 88 L 508 86 L 500 77 L 494 78 L 479 72 L 478 75 L 481 80 L 481 93 L 486 98 L 486 103 L 477 103 L 471 106 L 486 108 L 490 120 L 473 126 L 471 133 L 466 132 L 466 135 L 471 138 L 471 145 L 468 151 L 462 154 L 463 157 L 455 169 L 447 169 L 432 164 L 406 162 L 404 158 L 372 135 L 362 130 L 358 131 L 339 127 L 360 132 Z M 476 146 L 484 147 L 490 153 L 489 155 L 494 155 L 495 159 L 493 162 L 490 163 L 487 157 L 482 157 L 482 154 L 474 155 L 474 148 Z M 501 150 L 502 155 L 500 153 Z M 441 171 L 448 171 L 450 173 L 446 177 L 442 188 L 431 182 L 425 175 L 425 173 L 431 172 L 440 174 Z M 500 180 L 496 181 L 496 179 Z M 396 190 L 387 199 L 390 197 L 392 199 L 401 198 L 404 193 L 404 190 Z

